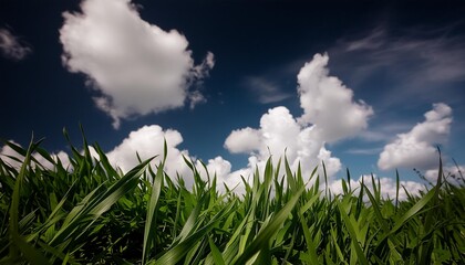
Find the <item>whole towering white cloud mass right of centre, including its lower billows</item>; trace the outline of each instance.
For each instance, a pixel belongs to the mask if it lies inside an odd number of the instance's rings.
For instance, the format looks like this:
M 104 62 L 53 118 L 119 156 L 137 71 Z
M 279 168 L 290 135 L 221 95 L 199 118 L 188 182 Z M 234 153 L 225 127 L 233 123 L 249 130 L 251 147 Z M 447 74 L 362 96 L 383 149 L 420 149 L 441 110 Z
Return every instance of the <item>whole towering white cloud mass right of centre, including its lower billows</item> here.
M 328 55 L 316 54 L 300 70 L 298 92 L 302 117 L 297 119 L 288 108 L 275 107 L 261 117 L 260 128 L 234 130 L 227 137 L 225 147 L 230 152 L 250 153 L 248 167 L 228 176 L 227 183 L 240 182 L 240 174 L 251 174 L 256 166 L 264 169 L 270 155 L 277 162 L 285 150 L 293 170 L 301 163 L 304 178 L 321 161 L 330 178 L 340 170 L 340 159 L 332 157 L 324 144 L 363 130 L 373 110 L 363 102 L 353 102 L 353 92 L 337 77 L 329 76 L 328 60 Z

